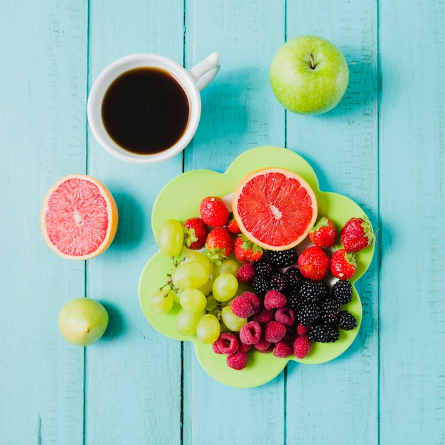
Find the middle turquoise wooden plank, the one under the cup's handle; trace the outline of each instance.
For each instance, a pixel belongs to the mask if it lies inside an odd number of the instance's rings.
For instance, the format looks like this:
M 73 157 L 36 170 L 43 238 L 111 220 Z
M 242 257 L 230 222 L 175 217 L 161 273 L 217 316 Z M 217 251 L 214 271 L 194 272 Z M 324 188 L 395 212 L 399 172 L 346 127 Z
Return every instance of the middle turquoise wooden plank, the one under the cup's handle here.
M 186 170 L 225 171 L 247 149 L 283 145 L 284 111 L 269 102 L 268 76 L 284 35 L 284 2 L 199 0 L 186 7 L 186 66 L 213 51 L 221 56 L 220 73 L 202 92 Z M 262 387 L 235 389 L 209 377 L 191 345 L 184 351 L 184 444 L 282 443 L 282 375 Z

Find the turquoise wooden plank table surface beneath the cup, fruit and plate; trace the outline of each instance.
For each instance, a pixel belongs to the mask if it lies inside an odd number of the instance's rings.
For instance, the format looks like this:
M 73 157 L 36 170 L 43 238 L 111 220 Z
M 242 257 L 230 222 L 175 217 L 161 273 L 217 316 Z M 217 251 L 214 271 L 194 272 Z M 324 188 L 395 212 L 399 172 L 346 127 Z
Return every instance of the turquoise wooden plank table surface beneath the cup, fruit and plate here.
M 441 0 L 2 0 L 0 444 L 445 444 L 444 18 Z M 285 112 L 268 80 L 277 49 L 305 33 L 350 68 L 318 117 Z M 213 51 L 221 70 L 183 154 L 139 166 L 100 147 L 86 101 L 107 64 L 152 52 L 191 68 Z M 264 144 L 355 200 L 377 245 L 350 348 L 238 389 L 151 327 L 138 282 L 163 186 Z M 69 173 L 100 179 L 119 208 L 112 246 L 87 262 L 57 257 L 39 227 L 45 192 Z M 58 313 L 85 295 L 110 321 L 80 348 Z

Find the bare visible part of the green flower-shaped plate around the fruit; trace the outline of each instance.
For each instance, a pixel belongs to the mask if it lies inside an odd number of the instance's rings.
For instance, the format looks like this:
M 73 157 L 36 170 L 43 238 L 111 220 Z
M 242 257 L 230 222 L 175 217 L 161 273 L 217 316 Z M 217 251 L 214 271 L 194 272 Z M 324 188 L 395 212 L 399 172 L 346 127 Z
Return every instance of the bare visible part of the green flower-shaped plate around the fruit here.
M 161 224 L 169 219 L 184 221 L 199 215 L 199 203 L 208 195 L 227 196 L 233 193 L 237 183 L 248 173 L 257 168 L 282 167 L 301 175 L 316 193 L 318 215 L 328 216 L 337 227 L 353 217 L 363 217 L 365 212 L 353 200 L 338 193 L 322 192 L 318 188 L 316 174 L 301 156 L 294 151 L 277 146 L 259 146 L 238 156 L 225 173 L 211 170 L 194 170 L 182 173 L 173 178 L 159 193 L 151 215 L 151 228 L 158 233 Z M 336 246 L 340 247 L 340 246 Z M 358 252 L 359 266 L 351 283 L 354 284 L 368 269 L 374 245 Z M 362 319 L 362 305 L 355 287 L 353 299 L 347 305 L 348 311 L 357 318 L 358 326 L 352 331 L 341 331 L 341 337 L 335 343 L 313 343 L 311 353 L 299 360 L 291 355 L 289 358 L 276 358 L 272 353 L 259 353 L 250 350 L 247 367 L 244 370 L 232 370 L 226 364 L 226 356 L 215 354 L 212 345 L 200 343 L 195 336 L 185 337 L 176 332 L 175 318 L 179 306 L 167 314 L 158 314 L 151 310 L 149 296 L 165 284 L 166 274 L 171 272 L 171 258 L 161 252 L 154 254 L 147 262 L 139 280 L 139 303 L 146 319 L 164 336 L 178 341 L 191 341 L 195 346 L 196 356 L 203 369 L 215 380 L 232 387 L 256 387 L 277 377 L 289 360 L 305 364 L 325 363 L 345 352 L 357 336 Z M 253 349 L 253 348 L 252 348 Z

